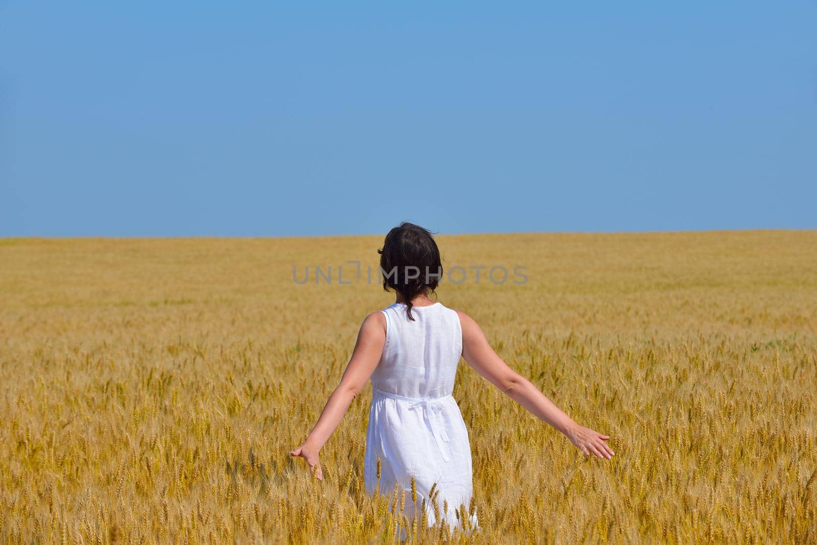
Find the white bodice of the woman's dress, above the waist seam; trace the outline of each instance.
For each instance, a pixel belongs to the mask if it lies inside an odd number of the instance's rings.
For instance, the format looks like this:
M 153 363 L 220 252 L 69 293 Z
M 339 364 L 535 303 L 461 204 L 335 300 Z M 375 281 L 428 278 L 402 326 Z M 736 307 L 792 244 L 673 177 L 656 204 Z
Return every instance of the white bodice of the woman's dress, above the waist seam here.
M 451 394 L 462 354 L 457 312 L 441 303 L 414 306 L 413 321 L 403 303 L 381 312 L 386 315 L 386 344 L 372 373 L 373 386 L 422 399 Z

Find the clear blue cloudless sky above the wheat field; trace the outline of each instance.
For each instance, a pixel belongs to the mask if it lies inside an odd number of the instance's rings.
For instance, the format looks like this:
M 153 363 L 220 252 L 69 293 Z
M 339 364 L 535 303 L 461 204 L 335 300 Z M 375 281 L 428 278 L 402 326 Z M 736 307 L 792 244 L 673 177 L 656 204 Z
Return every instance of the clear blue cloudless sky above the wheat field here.
M 815 2 L 0 2 L 0 236 L 817 228 Z

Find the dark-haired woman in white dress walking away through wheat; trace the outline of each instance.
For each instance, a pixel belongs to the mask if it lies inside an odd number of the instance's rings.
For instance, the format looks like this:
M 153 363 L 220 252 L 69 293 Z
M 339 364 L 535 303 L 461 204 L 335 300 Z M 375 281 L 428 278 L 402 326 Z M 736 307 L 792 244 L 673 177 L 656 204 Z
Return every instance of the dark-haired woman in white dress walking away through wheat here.
M 461 356 L 508 397 L 564 433 L 583 454 L 602 459 L 614 454 L 605 443 L 609 436 L 579 426 L 533 383 L 511 370 L 471 317 L 429 298 L 439 284 L 442 266 L 428 230 L 400 224 L 386 235 L 378 252 L 383 289 L 395 290 L 396 301 L 366 317 L 341 383 L 306 441 L 290 453 L 306 459 L 318 479 L 323 479 L 321 447 L 371 379 L 364 455 L 368 494 L 377 485 L 386 494 L 395 485 L 407 490 L 404 513 L 410 524 L 414 477 L 417 507 L 426 500 L 427 525 L 436 522 L 429 497 L 433 486 L 440 517 L 451 529 L 462 528 L 456 510 L 461 504 L 468 509 L 473 480 L 467 428 L 451 395 Z M 443 509 L 445 502 L 448 512 Z M 479 528 L 478 513 L 469 518 L 471 528 Z M 401 534 L 405 538 L 405 532 Z

